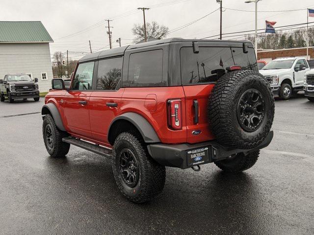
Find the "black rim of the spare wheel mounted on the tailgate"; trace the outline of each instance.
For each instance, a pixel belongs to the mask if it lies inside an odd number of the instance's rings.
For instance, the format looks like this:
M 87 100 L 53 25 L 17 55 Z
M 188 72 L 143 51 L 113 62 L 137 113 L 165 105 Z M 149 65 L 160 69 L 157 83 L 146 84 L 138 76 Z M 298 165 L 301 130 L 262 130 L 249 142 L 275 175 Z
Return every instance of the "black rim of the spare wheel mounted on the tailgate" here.
M 243 130 L 252 132 L 257 130 L 264 118 L 264 100 L 257 89 L 247 90 L 239 99 L 237 118 Z

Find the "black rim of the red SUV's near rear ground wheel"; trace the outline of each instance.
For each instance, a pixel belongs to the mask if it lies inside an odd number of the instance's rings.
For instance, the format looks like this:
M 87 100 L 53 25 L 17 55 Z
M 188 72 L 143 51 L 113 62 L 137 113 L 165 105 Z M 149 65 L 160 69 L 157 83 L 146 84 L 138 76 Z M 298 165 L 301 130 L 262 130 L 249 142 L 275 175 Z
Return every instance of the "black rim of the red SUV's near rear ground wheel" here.
M 139 169 L 135 156 L 130 149 L 125 148 L 120 152 L 120 174 L 124 183 L 130 188 L 137 185 Z

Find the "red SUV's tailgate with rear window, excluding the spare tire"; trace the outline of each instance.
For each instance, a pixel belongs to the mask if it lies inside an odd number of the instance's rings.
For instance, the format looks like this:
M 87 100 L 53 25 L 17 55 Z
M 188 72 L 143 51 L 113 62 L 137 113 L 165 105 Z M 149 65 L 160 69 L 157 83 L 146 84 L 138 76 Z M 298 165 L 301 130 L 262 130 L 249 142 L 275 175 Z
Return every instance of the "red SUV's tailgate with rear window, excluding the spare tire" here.
M 215 82 L 227 72 L 227 67 L 238 65 L 243 70 L 258 70 L 254 49 L 248 50 L 243 53 L 242 47 L 199 47 L 199 53 L 194 53 L 193 47 L 181 48 L 187 142 L 214 139 L 207 117 L 209 94 Z

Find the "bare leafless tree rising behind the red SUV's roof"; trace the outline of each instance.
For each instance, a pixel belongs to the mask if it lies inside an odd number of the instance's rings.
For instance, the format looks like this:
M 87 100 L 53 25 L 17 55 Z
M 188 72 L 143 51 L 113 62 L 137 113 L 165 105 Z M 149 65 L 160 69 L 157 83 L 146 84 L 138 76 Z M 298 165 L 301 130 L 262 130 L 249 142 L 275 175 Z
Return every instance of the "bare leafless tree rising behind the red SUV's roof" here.
M 153 21 L 151 24 L 146 23 L 147 37 L 153 37 L 156 39 L 163 39 L 167 36 L 169 28 L 164 25 L 159 25 Z M 134 24 L 132 33 L 135 35 L 134 43 L 137 43 L 145 38 L 144 24 Z

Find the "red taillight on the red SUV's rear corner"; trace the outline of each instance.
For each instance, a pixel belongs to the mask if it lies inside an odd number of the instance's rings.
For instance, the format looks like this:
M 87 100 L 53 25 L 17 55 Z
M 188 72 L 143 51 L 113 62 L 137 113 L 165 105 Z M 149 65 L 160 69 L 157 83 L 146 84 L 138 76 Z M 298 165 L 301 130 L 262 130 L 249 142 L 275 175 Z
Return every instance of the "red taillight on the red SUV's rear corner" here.
M 173 130 L 182 129 L 181 99 L 169 99 L 167 102 L 168 126 Z

